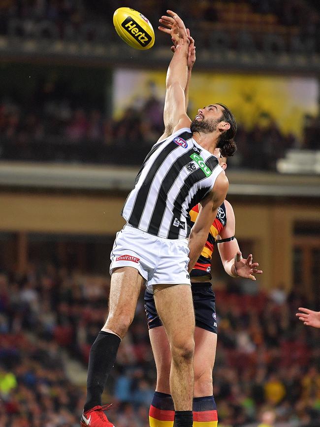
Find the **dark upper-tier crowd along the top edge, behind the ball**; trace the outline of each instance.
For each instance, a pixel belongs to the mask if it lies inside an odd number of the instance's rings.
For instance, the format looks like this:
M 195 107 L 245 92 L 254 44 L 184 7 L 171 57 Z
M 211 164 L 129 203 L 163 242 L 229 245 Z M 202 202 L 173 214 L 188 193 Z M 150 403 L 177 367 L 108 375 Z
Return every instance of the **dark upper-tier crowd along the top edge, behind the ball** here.
M 0 34 L 119 42 L 110 17 L 121 6 L 118 0 L 103 3 L 99 0 L 5 0 L 0 3 Z M 173 7 L 167 0 L 128 0 L 126 6 L 142 11 L 153 24 Z M 206 0 L 195 3 L 188 0 L 174 6 L 179 15 L 193 17 L 193 24 L 188 25 L 202 47 L 214 47 L 217 38 L 199 28 L 220 32 L 228 47 L 240 50 L 244 42 L 246 49 L 272 49 L 270 40 L 280 50 L 319 52 L 320 49 L 317 1 Z M 43 25 L 36 29 L 39 23 Z M 238 42 L 239 32 L 245 33 L 241 43 Z M 264 35 L 272 37 L 269 41 L 268 37 L 263 40 Z M 159 37 L 160 44 L 163 39 Z

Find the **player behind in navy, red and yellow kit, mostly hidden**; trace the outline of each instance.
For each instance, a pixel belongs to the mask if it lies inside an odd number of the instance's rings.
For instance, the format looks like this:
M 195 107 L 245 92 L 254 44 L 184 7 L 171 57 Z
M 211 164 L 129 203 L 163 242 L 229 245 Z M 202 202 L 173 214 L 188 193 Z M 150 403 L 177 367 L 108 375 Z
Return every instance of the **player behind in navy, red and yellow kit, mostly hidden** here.
M 219 156 L 219 163 L 225 169 L 226 158 Z M 198 206 L 190 211 L 192 223 L 198 215 Z M 192 224 L 191 224 L 192 225 Z M 213 397 L 212 370 L 216 356 L 217 320 L 215 294 L 211 285 L 211 255 L 215 244 L 221 256 L 226 273 L 232 277 L 256 280 L 254 274 L 258 263 L 252 262 L 252 255 L 242 259 L 235 234 L 235 216 L 228 201 L 220 206 L 212 223 L 207 242 L 195 263 L 191 276 L 191 289 L 195 313 L 194 330 L 194 394 L 193 422 L 196 426 L 216 427 L 218 423 L 217 407 Z M 167 427 L 173 425 L 173 401 L 168 382 L 171 356 L 165 330 L 161 324 L 151 292 L 145 291 L 145 309 L 148 320 L 149 336 L 157 366 L 157 388 L 149 411 L 150 427 L 161 427 L 165 421 Z M 208 424 L 210 423 L 210 424 Z

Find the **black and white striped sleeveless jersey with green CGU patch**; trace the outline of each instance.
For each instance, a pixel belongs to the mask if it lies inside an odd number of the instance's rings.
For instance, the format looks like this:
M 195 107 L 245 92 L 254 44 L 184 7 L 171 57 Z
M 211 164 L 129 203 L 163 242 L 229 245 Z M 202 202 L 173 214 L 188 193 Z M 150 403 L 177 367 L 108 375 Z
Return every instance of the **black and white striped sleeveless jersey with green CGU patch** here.
M 192 139 L 190 129 L 180 129 L 152 147 L 122 216 L 147 233 L 185 239 L 190 209 L 212 189 L 222 170 L 217 157 Z

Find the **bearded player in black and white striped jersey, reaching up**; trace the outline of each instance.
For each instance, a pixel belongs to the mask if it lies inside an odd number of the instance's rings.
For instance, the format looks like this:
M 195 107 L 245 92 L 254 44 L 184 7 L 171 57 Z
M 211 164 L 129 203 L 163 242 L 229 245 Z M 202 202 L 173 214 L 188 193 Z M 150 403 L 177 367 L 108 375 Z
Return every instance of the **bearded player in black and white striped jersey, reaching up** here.
M 167 71 L 163 112 L 165 129 L 171 127 L 172 134 L 152 147 L 123 208 L 127 224 L 117 233 L 111 253 L 109 315 L 90 351 L 82 427 L 113 426 L 103 412 L 101 394 L 145 282 L 154 292 L 170 344 L 175 423 L 192 426 L 194 312 L 188 269 L 198 259 L 228 188 L 214 149 L 234 146 L 236 124 L 219 104 L 199 109 L 193 121 L 188 117 L 190 40 L 183 21 L 168 13 L 179 37 Z M 201 209 L 190 232 L 187 217 L 197 203 Z

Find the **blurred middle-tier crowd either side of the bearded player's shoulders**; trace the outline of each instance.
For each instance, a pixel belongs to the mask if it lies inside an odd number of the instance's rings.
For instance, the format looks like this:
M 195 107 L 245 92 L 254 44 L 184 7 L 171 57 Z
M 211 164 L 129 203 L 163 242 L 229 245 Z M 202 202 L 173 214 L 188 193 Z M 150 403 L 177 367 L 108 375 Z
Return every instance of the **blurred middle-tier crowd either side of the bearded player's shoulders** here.
M 118 120 L 65 100 L 36 105 L 27 112 L 13 101 L 0 102 L 0 159 L 140 165 L 163 131 L 162 103 L 152 97 L 128 107 Z M 263 125 L 253 129 L 238 125 L 235 167 L 275 170 L 289 148 L 319 146 L 319 116 L 306 115 L 301 141 L 284 135 L 268 113 L 260 118 Z

